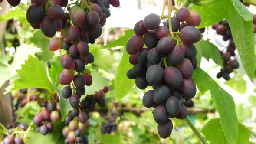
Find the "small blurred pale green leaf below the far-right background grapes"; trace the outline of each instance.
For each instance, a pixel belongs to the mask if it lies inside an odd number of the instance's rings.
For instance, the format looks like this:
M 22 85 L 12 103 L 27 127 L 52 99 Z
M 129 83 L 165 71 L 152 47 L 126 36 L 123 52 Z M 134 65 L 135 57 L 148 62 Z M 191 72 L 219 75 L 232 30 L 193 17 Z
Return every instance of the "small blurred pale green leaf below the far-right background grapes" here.
M 235 76 L 229 81 L 225 82 L 226 85 L 233 88 L 236 92 L 244 94 L 246 92 L 246 81 L 243 79 L 243 76 Z

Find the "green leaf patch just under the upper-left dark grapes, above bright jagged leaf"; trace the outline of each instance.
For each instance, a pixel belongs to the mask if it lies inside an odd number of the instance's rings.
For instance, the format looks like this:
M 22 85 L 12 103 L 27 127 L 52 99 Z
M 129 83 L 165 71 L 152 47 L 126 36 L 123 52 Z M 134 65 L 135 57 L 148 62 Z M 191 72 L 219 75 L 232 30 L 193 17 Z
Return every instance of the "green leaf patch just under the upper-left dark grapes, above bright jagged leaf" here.
M 42 49 L 42 52 L 36 54 L 39 60 L 49 62 L 53 58 L 54 52 L 49 50 L 50 39 L 44 36 L 41 30 L 37 30 L 29 41 Z

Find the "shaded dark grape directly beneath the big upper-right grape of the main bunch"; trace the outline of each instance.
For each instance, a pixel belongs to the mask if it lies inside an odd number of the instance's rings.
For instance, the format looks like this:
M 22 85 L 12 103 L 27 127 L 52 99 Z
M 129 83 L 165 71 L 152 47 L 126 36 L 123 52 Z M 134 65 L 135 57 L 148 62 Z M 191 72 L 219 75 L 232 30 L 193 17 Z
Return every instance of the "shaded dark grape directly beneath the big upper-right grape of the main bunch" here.
M 185 53 L 185 58 L 194 59 L 197 56 L 197 49 L 194 44 L 186 44 L 181 42 L 180 47 Z

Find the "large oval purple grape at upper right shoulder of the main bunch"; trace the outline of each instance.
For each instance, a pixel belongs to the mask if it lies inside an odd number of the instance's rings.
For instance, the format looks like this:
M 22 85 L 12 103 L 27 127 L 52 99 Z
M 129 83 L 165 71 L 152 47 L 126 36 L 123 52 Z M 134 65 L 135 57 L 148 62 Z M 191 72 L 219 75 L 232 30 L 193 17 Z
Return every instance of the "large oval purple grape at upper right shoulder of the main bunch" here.
M 180 37 L 184 43 L 192 44 L 198 42 L 201 39 L 202 34 L 195 27 L 186 26 L 181 30 Z

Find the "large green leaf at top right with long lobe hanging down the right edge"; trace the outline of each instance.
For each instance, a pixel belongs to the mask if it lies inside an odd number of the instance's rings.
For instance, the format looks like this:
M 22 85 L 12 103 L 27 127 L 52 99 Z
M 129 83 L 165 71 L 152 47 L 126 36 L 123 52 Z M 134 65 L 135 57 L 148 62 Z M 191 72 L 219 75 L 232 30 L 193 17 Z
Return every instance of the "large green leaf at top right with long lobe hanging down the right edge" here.
M 224 18 L 228 21 L 243 67 L 249 78 L 253 80 L 255 70 L 253 16 L 238 3 L 238 0 L 220 0 L 203 7 L 192 6 L 190 9 L 200 13 L 199 27 L 211 26 Z

